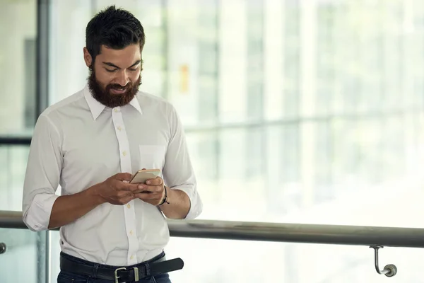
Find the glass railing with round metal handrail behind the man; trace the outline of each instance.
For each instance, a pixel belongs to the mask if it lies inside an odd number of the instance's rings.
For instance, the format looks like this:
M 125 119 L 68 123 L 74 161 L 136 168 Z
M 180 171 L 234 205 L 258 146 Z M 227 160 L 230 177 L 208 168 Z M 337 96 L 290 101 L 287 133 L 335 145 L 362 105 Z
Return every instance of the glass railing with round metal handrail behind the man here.
M 42 233 L 25 230 L 21 216 L 20 212 L 0 211 L 0 226 L 9 229 L 3 229 L 8 234 L 0 234 L 0 242 L 20 247 L 1 254 L 0 262 L 7 257 L 11 257 L 11 262 L 19 262 L 20 256 L 25 260 L 33 258 L 31 264 L 37 262 L 40 267 L 30 272 L 42 276 L 40 259 L 46 256 L 43 245 L 47 241 L 40 238 Z M 387 274 L 393 277 L 390 282 L 424 282 L 420 272 L 424 229 L 206 220 L 168 220 L 168 226 L 172 238 L 165 249 L 167 257 L 185 262 L 183 270 L 170 275 L 174 283 L 387 282 L 389 279 L 375 272 L 376 268 L 382 274 L 392 272 Z M 19 237 L 15 238 L 15 233 L 33 235 L 33 242 L 17 243 Z M 45 272 L 50 275 L 50 282 L 55 282 L 59 273 L 59 233 L 48 233 L 51 253 L 44 258 L 49 261 Z M 393 248 L 377 249 L 375 258 L 371 248 L 379 246 Z M 16 270 L 16 265 L 10 268 L 6 272 Z

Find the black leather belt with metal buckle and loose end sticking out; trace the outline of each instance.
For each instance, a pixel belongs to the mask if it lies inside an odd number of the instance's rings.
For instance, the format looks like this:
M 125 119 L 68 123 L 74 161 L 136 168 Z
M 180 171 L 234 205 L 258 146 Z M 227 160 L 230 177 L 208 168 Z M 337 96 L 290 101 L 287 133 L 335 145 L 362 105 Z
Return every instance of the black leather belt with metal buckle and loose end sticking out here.
M 60 269 L 64 272 L 86 275 L 93 278 L 119 282 L 138 282 L 140 279 L 181 270 L 184 262 L 181 258 L 166 260 L 165 256 L 153 262 L 143 262 L 131 267 L 94 267 L 81 262 L 74 262 L 63 256 L 60 257 Z

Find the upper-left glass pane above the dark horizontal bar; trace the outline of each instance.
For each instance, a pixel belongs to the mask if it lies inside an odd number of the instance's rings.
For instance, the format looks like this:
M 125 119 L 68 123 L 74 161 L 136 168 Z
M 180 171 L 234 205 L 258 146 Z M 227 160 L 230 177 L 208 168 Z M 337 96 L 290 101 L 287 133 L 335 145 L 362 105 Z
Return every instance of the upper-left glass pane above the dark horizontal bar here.
M 35 125 L 36 3 L 0 4 L 0 135 L 29 135 Z

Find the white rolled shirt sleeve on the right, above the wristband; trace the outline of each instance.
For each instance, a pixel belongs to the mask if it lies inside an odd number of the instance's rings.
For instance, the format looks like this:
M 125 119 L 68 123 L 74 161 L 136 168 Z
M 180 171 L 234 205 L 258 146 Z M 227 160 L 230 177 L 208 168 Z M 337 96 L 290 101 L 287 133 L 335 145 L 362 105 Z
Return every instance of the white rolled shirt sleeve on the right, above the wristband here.
M 187 194 L 190 200 L 190 209 L 185 219 L 194 219 L 201 214 L 203 204 L 196 188 L 196 177 L 190 161 L 182 123 L 173 107 L 170 111 L 169 122 L 170 142 L 167 146 L 163 177 L 165 184 L 172 190 L 182 190 Z

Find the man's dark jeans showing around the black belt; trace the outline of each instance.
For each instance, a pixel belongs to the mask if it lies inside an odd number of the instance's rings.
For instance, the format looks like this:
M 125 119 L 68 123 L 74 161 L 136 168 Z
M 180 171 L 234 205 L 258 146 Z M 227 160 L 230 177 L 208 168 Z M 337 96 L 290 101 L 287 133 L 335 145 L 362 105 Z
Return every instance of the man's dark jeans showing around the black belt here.
M 72 260 L 73 262 L 80 262 L 85 265 L 93 265 L 93 267 L 110 267 L 111 269 L 115 270 L 118 267 L 116 266 L 110 266 L 110 265 L 100 265 L 95 262 L 89 262 L 87 260 L 82 260 L 81 258 L 75 258 L 71 255 L 66 255 L 66 253 L 61 253 L 61 256 L 64 258 L 67 258 L 68 260 Z M 161 253 L 158 257 L 154 258 L 161 258 L 165 256 L 165 253 Z M 151 262 L 152 260 L 147 260 L 147 262 Z M 78 275 L 71 272 L 64 272 L 61 271 L 59 275 L 57 276 L 57 283 L 114 283 L 114 280 L 105 280 L 105 279 L 98 279 L 94 278 L 92 276 L 86 276 L 86 275 Z M 132 282 L 126 282 L 126 283 L 132 283 Z M 167 274 L 163 275 L 155 275 L 152 277 L 147 277 L 140 279 L 138 283 L 171 283 L 170 277 Z

